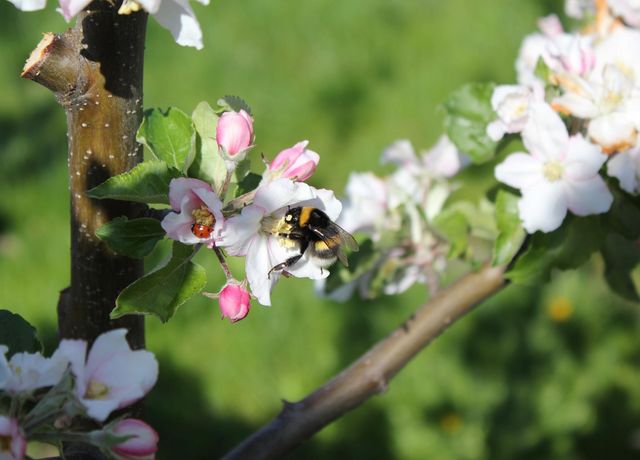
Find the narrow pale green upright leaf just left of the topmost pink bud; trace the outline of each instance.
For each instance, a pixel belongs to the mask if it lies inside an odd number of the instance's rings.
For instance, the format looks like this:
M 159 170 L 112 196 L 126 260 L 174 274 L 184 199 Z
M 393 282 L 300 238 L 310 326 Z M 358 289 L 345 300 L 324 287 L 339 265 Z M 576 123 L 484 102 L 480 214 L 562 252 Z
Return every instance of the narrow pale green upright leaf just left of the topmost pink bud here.
M 215 139 L 218 115 L 206 102 L 201 102 L 192 114 L 196 128 L 196 154 L 189 168 L 189 177 L 196 177 L 220 190 L 227 175 L 227 167 L 218 152 Z

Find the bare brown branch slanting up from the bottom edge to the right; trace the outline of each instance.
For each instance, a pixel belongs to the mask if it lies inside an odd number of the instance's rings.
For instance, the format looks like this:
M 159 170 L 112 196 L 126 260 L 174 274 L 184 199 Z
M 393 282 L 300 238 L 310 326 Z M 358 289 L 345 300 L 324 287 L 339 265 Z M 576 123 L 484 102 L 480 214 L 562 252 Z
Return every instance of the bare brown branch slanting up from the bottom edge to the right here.
M 226 460 L 273 459 L 382 393 L 411 358 L 462 315 L 506 283 L 504 267 L 485 267 L 441 291 L 347 369 L 280 414 L 229 452 Z

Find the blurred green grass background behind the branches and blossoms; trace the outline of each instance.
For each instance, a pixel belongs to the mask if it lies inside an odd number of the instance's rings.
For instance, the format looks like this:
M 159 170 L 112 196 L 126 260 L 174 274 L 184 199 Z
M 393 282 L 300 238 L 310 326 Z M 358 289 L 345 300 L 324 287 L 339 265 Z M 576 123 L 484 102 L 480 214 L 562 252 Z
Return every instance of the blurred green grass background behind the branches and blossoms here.
M 191 111 L 240 95 L 254 110 L 258 152 L 309 139 L 322 157 L 312 184 L 339 192 L 350 171 L 381 172 L 379 153 L 393 140 L 432 145 L 440 104 L 461 84 L 513 81 L 522 37 L 562 2 L 217 0 L 194 9 L 203 51 L 180 48 L 150 21 L 145 105 Z M 40 32 L 65 28 L 53 2 L 20 13 L 0 0 L 0 308 L 23 314 L 50 344 L 69 281 L 65 117 L 18 75 Z M 214 258 L 199 262 L 217 290 Z M 509 287 L 290 458 L 638 458 L 639 310 L 601 273 L 594 259 L 544 288 Z M 159 458 L 219 457 L 281 398 L 303 397 L 425 298 L 415 287 L 334 304 L 307 281 L 284 280 L 272 308 L 254 305 L 235 325 L 205 299 L 169 324 L 148 319 L 161 372 L 146 418 L 160 432 Z

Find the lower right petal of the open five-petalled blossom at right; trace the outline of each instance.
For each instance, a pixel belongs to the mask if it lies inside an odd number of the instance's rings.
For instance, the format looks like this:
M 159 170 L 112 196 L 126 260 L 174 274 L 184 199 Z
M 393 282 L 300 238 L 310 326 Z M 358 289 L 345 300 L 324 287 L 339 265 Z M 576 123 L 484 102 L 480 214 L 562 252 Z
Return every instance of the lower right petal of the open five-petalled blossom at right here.
M 613 203 L 613 195 L 600 176 L 581 181 L 567 181 L 564 187 L 567 206 L 577 216 L 605 213 Z

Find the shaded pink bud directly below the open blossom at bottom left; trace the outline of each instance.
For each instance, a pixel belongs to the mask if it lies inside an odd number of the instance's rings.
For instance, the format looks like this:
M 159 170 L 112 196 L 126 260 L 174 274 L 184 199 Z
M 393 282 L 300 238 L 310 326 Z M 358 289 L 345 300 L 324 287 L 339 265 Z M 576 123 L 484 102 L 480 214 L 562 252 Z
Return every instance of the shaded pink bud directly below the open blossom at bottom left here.
M 119 460 L 153 460 L 158 450 L 158 433 L 142 420 L 126 418 L 113 427 L 113 433 L 133 436 L 111 448 Z

